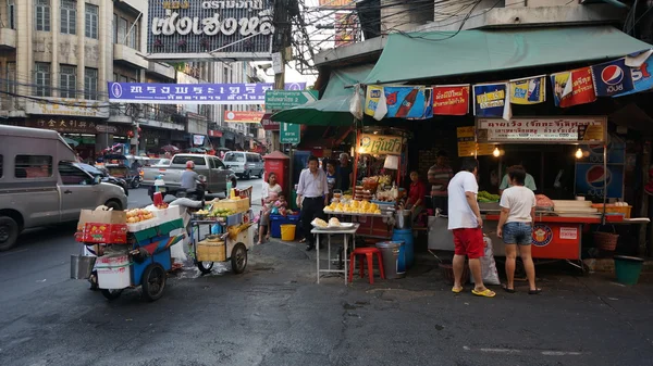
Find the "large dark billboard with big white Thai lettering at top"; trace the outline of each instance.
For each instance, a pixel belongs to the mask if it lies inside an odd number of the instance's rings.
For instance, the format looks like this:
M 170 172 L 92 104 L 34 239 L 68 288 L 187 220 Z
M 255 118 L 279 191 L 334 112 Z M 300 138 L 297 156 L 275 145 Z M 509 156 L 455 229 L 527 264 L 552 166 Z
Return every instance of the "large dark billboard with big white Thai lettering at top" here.
M 269 60 L 272 0 L 149 0 L 148 59 Z

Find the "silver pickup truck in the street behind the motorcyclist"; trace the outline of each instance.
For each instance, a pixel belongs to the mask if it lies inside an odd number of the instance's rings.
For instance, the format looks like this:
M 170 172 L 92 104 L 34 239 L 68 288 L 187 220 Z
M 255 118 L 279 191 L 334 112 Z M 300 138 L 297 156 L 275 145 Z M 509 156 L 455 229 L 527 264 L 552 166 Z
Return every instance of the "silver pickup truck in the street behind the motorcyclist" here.
M 176 154 L 172 156 L 169 166 L 145 167 L 143 169 L 141 186 L 149 187 L 150 197 L 155 193 L 155 181 L 161 177 L 164 185 L 161 187 L 165 194 L 176 195 L 181 191 L 182 173 L 186 169 L 186 162 L 195 163 L 195 172 L 207 178 L 206 189 L 209 193 L 225 193 L 226 182 L 234 177 L 217 156 L 204 154 Z

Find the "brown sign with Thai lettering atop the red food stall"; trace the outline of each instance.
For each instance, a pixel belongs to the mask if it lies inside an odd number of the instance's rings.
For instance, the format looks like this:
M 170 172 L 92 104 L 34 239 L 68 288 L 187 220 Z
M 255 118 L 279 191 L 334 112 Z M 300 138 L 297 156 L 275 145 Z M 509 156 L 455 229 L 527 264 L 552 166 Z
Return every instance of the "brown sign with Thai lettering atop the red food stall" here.
M 604 117 L 478 118 L 483 142 L 603 142 Z

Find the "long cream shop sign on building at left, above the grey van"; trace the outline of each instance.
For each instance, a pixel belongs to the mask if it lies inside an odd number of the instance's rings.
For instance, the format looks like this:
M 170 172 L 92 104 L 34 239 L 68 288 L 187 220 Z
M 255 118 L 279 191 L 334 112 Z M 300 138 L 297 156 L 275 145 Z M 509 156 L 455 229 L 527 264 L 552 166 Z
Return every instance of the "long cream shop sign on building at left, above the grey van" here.
M 109 103 L 67 98 L 41 99 L 42 101 L 25 100 L 25 113 L 109 118 Z

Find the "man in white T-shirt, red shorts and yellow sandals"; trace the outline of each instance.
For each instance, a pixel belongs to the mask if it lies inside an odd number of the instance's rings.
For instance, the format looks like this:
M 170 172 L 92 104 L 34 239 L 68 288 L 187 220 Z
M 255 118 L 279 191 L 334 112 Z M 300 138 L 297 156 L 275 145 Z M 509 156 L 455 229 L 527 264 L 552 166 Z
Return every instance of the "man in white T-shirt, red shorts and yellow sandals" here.
M 448 185 L 448 229 L 454 234 L 456 247 L 452 291 L 454 293 L 463 291 L 460 278 L 467 255 L 475 282 L 471 293 L 478 296 L 494 298 L 496 293 L 483 285 L 481 261 L 479 260 L 483 256 L 485 243 L 483 242 L 483 219 L 477 202 L 478 172 L 479 162 L 473 157 L 465 157 L 460 172 L 452 178 Z

